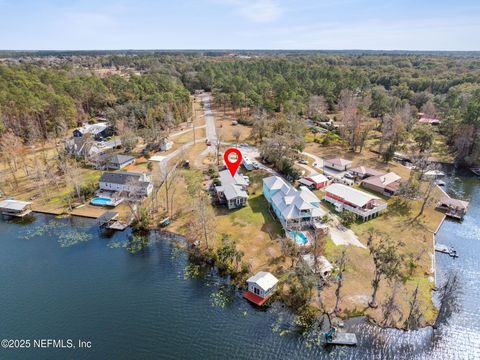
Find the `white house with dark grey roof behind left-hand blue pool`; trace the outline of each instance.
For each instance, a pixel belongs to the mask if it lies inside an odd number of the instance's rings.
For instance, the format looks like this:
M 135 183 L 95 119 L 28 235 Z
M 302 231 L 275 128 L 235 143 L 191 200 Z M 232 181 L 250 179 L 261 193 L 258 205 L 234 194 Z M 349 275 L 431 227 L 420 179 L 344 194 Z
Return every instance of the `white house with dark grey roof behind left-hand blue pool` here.
M 152 193 L 153 184 L 147 174 L 136 172 L 104 172 L 99 182 L 100 193 L 122 193 L 128 197 L 145 197 Z

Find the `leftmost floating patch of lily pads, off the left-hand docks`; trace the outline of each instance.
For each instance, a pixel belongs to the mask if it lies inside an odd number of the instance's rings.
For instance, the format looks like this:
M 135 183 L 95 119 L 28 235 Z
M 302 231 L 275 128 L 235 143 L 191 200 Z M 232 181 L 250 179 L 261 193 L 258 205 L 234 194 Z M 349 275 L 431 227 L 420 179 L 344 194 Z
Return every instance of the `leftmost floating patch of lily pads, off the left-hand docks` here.
M 56 238 L 61 247 L 76 245 L 92 239 L 92 235 L 86 232 L 86 229 L 82 231 L 58 220 L 51 220 L 43 225 L 27 230 L 23 235 L 23 239 L 30 240 L 43 235 Z

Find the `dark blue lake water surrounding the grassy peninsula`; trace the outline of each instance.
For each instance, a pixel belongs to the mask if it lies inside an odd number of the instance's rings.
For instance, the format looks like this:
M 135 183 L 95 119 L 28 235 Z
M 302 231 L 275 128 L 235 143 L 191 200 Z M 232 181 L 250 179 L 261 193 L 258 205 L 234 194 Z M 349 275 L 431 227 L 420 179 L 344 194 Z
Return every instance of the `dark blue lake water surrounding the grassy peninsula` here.
M 0 359 L 480 358 L 480 182 L 453 174 L 447 183 L 471 204 L 463 223 L 447 221 L 437 236 L 459 254 L 437 254 L 439 283 L 455 268 L 463 294 L 459 313 L 435 332 L 356 319 L 347 323 L 356 348 L 309 347 L 281 331 L 291 321 L 282 306 L 256 309 L 214 273 L 186 276 L 172 239 L 152 234 L 148 248 L 132 254 L 128 231 L 107 236 L 92 220 L 35 214 L 30 224 L 0 221 L 0 338 L 81 339 L 92 347 L 0 348 Z

